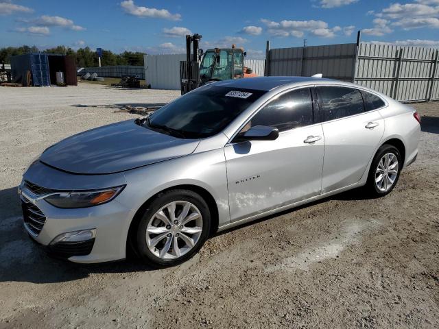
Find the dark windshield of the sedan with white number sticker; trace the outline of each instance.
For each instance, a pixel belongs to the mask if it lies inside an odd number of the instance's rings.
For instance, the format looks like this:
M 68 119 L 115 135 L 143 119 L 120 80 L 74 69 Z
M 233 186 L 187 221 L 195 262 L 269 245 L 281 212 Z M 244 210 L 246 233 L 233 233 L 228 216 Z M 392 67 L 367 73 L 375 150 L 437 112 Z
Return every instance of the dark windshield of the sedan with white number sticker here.
M 264 93 L 263 90 L 208 85 L 163 106 L 144 125 L 178 138 L 213 136 Z

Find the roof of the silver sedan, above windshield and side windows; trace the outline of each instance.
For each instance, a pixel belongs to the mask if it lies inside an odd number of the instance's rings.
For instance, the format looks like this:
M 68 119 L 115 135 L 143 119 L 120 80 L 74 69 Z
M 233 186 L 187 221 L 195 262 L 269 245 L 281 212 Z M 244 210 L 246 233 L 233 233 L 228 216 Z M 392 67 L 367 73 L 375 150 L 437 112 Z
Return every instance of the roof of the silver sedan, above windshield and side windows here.
M 321 77 L 246 77 L 245 79 L 224 80 L 216 82 L 215 86 L 235 87 L 269 91 L 279 86 L 290 84 L 346 84 L 346 82 Z

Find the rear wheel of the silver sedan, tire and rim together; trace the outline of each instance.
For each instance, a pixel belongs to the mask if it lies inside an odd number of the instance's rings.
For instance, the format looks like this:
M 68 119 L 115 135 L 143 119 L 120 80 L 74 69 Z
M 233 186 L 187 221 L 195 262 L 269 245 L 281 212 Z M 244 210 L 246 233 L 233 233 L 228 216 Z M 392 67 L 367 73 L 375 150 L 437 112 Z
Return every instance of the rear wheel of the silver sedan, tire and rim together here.
M 386 162 L 388 160 L 389 163 Z M 368 194 L 371 197 L 383 197 L 392 192 L 399 180 L 402 164 L 401 155 L 396 147 L 389 144 L 381 145 L 370 165 L 366 183 Z

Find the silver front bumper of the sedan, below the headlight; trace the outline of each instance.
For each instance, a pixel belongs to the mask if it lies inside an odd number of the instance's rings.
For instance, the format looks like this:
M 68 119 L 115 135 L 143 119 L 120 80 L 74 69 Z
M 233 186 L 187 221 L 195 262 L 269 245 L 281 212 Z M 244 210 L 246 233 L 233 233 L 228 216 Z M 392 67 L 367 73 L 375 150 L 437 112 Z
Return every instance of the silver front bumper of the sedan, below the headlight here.
M 123 192 L 122 192 L 123 193 Z M 126 257 L 126 234 L 134 211 L 126 208 L 117 199 L 90 208 L 61 209 L 38 198 L 26 188 L 19 189 L 22 202 L 40 210 L 45 216 L 40 230 L 31 227 L 33 221 L 27 219 L 23 206 L 25 229 L 49 254 L 67 258 L 75 263 L 99 263 Z M 31 213 L 34 216 L 34 213 Z M 41 218 L 39 218 L 41 221 Z M 52 243 L 56 236 L 67 232 L 93 230 L 93 239 L 76 242 Z

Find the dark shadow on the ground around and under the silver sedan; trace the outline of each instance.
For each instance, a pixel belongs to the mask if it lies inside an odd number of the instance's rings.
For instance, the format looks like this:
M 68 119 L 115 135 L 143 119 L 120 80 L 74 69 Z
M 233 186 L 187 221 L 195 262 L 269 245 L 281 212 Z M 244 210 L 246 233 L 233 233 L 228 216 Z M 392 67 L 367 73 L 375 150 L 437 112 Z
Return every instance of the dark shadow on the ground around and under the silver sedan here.
M 51 258 L 44 248 L 34 242 L 23 228 L 21 202 L 16 187 L 0 191 L 0 282 L 54 283 L 87 278 L 93 273 L 130 273 L 152 271 L 134 255 L 126 260 L 112 263 L 76 264 L 67 260 Z M 327 202 L 328 199 L 364 199 L 363 193 L 353 190 L 334 197 L 321 199 L 294 209 L 278 212 L 250 223 L 213 234 L 221 236 L 246 226 L 267 221 L 298 209 Z

